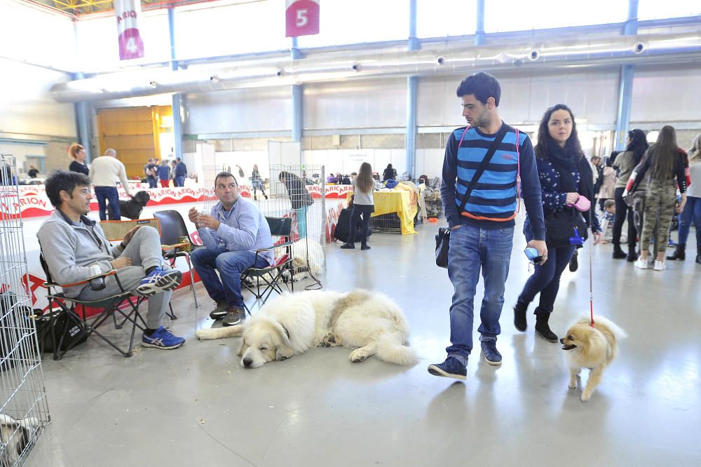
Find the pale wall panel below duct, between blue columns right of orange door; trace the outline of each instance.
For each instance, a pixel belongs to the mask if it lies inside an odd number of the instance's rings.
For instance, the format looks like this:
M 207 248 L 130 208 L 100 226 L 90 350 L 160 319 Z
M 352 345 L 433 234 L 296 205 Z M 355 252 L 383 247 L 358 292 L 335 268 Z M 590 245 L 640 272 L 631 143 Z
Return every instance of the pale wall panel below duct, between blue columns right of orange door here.
M 292 128 L 292 90 L 260 88 L 189 94 L 184 133 L 244 133 Z

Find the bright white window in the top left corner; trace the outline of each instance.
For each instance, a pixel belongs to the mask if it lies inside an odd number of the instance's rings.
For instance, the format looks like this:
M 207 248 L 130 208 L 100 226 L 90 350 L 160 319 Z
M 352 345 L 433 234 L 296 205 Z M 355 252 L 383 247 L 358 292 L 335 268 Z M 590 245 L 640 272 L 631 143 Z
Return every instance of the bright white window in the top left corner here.
M 76 59 L 71 18 L 16 0 L 0 0 L 0 44 L 0 55 L 28 63 L 67 69 Z

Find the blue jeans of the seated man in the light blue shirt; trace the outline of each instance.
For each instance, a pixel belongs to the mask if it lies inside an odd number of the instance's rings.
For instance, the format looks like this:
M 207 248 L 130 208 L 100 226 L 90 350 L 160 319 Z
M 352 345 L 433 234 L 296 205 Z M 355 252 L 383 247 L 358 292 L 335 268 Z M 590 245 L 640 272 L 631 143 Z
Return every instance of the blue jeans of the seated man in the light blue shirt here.
M 229 251 L 226 247 L 216 250 L 196 248 L 190 255 L 192 265 L 197 271 L 207 294 L 215 302 L 226 302 L 229 306 L 243 308 L 241 295 L 241 273 L 250 267 L 268 266 L 264 257 L 256 259 L 255 252 L 248 250 Z M 215 272 L 219 271 L 219 276 Z M 219 278 L 222 280 L 219 280 Z

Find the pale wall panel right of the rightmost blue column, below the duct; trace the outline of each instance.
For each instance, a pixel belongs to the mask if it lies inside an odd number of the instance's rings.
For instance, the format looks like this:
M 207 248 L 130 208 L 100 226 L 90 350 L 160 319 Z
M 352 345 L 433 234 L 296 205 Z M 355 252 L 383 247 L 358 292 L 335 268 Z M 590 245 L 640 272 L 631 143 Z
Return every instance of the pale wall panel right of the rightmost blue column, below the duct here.
M 636 68 L 630 121 L 701 121 L 701 67 Z

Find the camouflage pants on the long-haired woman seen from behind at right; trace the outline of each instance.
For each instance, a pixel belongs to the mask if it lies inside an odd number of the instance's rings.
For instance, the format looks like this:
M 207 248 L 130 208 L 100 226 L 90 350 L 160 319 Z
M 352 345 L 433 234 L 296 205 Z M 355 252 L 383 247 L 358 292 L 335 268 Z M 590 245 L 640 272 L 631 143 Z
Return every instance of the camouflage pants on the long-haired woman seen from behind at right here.
M 669 241 L 669 226 L 674 216 L 676 205 L 676 188 L 673 180 L 651 181 L 645 196 L 645 214 L 643 216 L 643 233 L 640 236 L 640 250 L 650 248 L 650 238 L 655 235 L 655 251 L 664 252 Z

